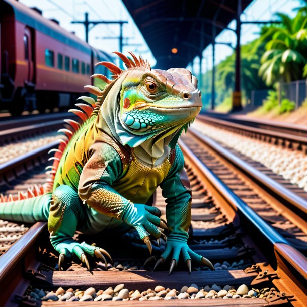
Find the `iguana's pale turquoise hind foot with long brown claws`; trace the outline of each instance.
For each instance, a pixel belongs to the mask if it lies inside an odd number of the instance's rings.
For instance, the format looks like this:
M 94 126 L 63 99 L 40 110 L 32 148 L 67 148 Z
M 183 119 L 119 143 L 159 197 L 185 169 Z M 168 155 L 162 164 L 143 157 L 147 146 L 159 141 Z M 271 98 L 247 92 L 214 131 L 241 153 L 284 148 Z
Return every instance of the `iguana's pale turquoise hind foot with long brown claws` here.
M 113 262 L 110 254 L 106 250 L 99 248 L 97 246 L 89 245 L 85 242 L 78 243 L 72 240 L 70 242 L 59 243 L 55 247 L 55 249 L 58 252 L 60 252 L 59 260 L 58 260 L 58 268 L 60 271 L 63 270 L 63 263 L 64 263 L 65 258 L 70 257 L 73 254 L 76 255 L 85 264 L 85 266 L 87 267 L 89 271 L 90 271 L 90 264 L 89 264 L 89 260 L 86 254 L 92 257 L 97 257 L 101 259 L 105 263 L 106 269 L 107 269 L 108 262 L 104 255 L 109 257 L 111 262 Z

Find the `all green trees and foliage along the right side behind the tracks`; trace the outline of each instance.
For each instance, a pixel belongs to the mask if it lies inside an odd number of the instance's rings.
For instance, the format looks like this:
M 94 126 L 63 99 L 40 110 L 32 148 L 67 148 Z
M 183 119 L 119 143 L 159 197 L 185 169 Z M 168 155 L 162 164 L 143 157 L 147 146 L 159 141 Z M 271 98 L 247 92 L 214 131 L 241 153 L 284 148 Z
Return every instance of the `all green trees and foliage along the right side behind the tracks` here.
M 241 88 L 248 101 L 252 90 L 276 88 L 278 82 L 290 82 L 307 76 L 307 6 L 290 18 L 277 13 L 279 24 L 264 25 L 259 38 L 241 46 Z M 211 98 L 212 71 L 203 75 L 202 97 Z M 235 84 L 235 52 L 216 65 L 216 104 L 231 97 Z M 277 95 L 277 94 L 276 94 Z M 277 101 L 277 100 L 276 100 Z M 266 109 L 276 106 L 267 99 Z

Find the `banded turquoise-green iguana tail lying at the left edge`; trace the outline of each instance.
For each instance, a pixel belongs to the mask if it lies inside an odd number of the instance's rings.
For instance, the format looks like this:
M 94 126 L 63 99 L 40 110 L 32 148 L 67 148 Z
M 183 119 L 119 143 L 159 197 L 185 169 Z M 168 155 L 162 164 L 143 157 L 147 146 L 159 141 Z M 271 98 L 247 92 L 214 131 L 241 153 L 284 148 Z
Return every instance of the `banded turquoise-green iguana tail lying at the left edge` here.
M 0 203 L 0 219 L 24 223 L 47 221 L 52 192 L 36 197 Z

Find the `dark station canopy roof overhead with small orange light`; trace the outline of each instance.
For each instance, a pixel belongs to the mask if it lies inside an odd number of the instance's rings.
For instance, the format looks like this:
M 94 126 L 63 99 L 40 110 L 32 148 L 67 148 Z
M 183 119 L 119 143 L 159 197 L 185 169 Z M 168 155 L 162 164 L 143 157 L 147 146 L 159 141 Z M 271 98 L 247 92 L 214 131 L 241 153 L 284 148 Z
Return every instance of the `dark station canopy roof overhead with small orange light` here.
M 157 67 L 186 67 L 237 16 L 238 0 L 123 0 Z M 242 11 L 252 0 L 242 0 Z M 202 33 L 202 35 L 201 35 Z M 201 39 L 202 38 L 202 39 Z M 176 48 L 177 53 L 172 53 Z M 176 50 L 173 50 L 176 51 Z

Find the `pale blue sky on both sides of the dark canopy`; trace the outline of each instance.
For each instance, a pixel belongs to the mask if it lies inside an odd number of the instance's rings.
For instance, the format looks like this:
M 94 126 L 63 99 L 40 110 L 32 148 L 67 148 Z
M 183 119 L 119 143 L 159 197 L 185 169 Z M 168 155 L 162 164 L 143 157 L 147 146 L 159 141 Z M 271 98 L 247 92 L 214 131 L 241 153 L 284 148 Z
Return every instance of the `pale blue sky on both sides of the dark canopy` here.
M 132 1 L 132 0 L 131 0 Z M 168 1 L 168 0 L 165 0 Z M 133 19 L 121 0 L 20 0 L 28 7 L 37 7 L 43 11 L 43 16 L 49 19 L 55 18 L 60 22 L 61 27 L 68 31 L 74 31 L 75 35 L 85 40 L 85 30 L 82 24 L 71 24 L 73 20 L 84 20 L 84 13 L 89 13 L 89 20 L 126 20 L 128 24 L 123 26 L 123 34 L 128 39 L 125 41 L 130 45 L 124 46 L 123 50 L 133 51 L 147 58 L 152 66 L 156 60 L 149 50 L 144 38 L 136 27 Z M 283 12 L 290 16 L 295 15 L 294 8 L 301 6 L 299 0 L 254 0 L 242 13 L 242 21 L 267 21 L 274 20 L 274 13 Z M 235 29 L 236 22 L 232 21 L 229 28 Z M 241 43 L 245 44 L 257 37 L 258 25 L 242 25 Z M 117 37 L 119 25 L 97 25 L 89 32 L 89 43 L 97 49 L 108 53 L 119 50 Z M 216 42 L 231 43 L 236 46 L 236 35 L 233 31 L 224 30 L 217 37 Z M 225 45 L 215 46 L 215 63 L 225 59 L 233 52 L 231 47 Z M 212 45 L 203 51 L 203 71 L 212 68 Z M 198 58 L 194 61 L 194 72 L 198 73 Z

